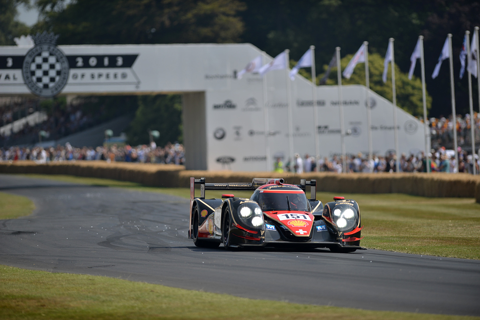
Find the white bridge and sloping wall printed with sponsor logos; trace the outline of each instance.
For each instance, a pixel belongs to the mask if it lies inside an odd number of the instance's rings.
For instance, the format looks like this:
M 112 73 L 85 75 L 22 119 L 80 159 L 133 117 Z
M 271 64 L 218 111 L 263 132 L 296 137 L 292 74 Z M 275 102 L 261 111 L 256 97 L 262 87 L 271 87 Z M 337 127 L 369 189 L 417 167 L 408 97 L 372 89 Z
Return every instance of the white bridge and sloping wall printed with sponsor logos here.
M 61 94 L 189 93 L 204 99 L 203 117 L 184 117 L 185 144 L 206 145 L 204 154 L 187 150 L 187 167 L 260 171 L 267 167 L 264 105 L 269 114 L 270 156 L 288 160 L 288 101 L 286 72 L 271 71 L 264 79 L 236 72 L 262 52 L 250 44 L 59 46 L 69 61 L 68 82 Z M 30 95 L 22 75 L 22 57 L 29 48 L 0 47 L 0 95 Z M 10 59 L 9 59 L 10 58 Z M 271 60 L 269 57 L 268 61 Z M 267 101 L 263 101 L 263 81 Z M 319 128 L 314 128 L 312 86 L 300 75 L 291 82 L 294 152 L 315 153 L 319 135 L 321 155 L 341 152 L 340 119 L 336 86 L 317 87 Z M 193 93 L 204 93 L 192 95 Z M 343 87 L 348 154 L 368 153 L 366 88 Z M 372 138 L 376 154 L 394 148 L 393 106 L 371 92 Z M 191 103 L 191 106 L 195 104 Z M 188 110 L 188 109 L 184 109 Z M 166 119 L 168 121 L 168 119 Z M 398 108 L 401 153 L 423 150 L 422 124 Z

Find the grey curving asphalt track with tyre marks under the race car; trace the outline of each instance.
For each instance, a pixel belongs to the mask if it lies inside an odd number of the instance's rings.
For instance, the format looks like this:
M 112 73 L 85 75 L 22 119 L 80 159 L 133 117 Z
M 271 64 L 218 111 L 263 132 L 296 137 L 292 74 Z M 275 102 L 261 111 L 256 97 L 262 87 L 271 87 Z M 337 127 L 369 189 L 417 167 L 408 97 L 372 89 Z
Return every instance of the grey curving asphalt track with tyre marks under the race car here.
M 185 199 L 13 175 L 0 175 L 0 191 L 36 205 L 28 217 L 0 220 L 0 264 L 302 304 L 480 316 L 477 260 L 200 249 L 187 238 Z

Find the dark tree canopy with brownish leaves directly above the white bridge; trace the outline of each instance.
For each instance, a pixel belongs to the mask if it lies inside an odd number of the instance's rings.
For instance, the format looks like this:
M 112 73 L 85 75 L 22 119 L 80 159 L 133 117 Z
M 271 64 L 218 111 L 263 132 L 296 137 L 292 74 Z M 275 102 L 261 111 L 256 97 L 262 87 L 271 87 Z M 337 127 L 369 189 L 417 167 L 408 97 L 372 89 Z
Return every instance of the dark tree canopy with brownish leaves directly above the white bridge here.
M 238 0 L 38 0 L 36 31 L 59 44 L 228 43 L 244 30 Z

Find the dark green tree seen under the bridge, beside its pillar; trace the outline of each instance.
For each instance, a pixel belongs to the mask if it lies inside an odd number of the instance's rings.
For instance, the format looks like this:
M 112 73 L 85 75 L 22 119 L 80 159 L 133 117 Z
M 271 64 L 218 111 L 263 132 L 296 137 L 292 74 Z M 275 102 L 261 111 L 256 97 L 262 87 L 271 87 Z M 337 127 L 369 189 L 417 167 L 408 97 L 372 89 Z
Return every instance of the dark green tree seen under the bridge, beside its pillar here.
M 158 130 L 160 146 L 167 142 L 182 142 L 180 95 L 144 95 L 138 97 L 135 118 L 127 129 L 128 142 L 132 145 L 149 142 L 148 131 Z

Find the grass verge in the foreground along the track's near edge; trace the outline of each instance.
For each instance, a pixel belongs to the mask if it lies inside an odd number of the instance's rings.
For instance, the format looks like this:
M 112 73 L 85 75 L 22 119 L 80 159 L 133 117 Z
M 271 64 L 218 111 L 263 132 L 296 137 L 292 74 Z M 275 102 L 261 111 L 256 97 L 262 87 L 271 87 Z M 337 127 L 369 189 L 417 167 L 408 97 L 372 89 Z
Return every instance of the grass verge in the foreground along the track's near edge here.
M 2 320 L 480 319 L 255 300 L 116 278 L 48 273 L 4 265 L 0 265 L 0 314 Z

